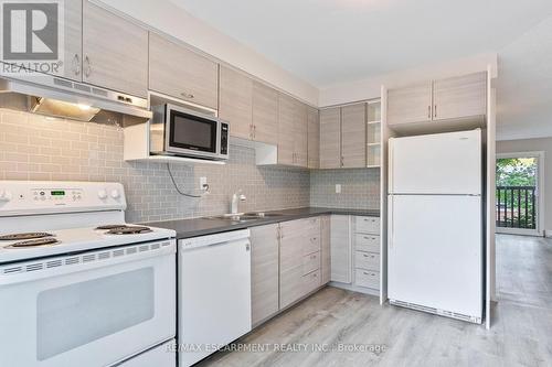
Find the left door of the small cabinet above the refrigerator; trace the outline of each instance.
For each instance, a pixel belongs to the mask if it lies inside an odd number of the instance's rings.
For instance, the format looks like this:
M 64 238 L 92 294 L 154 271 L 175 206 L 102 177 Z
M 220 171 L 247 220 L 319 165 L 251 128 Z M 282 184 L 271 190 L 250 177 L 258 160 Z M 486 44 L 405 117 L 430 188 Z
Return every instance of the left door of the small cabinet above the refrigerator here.
M 388 91 L 388 125 L 432 120 L 432 82 Z

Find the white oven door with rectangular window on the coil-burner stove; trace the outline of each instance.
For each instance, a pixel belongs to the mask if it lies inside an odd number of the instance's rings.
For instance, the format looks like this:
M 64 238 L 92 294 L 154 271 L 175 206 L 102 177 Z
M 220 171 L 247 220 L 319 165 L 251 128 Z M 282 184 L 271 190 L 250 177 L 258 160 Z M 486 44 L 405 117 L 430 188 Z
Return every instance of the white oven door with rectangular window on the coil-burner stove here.
M 0 366 L 110 366 L 176 335 L 176 246 L 0 267 Z

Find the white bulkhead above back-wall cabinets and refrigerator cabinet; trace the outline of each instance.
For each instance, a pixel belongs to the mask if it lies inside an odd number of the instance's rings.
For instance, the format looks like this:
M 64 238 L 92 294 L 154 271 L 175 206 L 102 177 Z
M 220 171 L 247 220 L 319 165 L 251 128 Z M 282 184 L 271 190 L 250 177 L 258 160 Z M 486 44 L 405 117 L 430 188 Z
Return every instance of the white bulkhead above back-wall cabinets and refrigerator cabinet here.
M 320 90 L 320 107 L 380 98 L 382 85 L 395 88 L 422 80 L 484 72 L 487 71 L 489 64 L 495 78 L 497 77 L 497 54 L 486 53 L 330 86 Z

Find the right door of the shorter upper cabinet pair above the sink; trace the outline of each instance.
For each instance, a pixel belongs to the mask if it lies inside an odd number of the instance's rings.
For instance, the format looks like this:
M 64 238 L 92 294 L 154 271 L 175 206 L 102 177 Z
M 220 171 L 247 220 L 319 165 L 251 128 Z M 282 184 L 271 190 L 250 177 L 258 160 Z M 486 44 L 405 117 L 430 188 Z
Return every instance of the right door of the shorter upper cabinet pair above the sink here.
M 278 91 L 253 82 L 253 139 L 278 144 Z

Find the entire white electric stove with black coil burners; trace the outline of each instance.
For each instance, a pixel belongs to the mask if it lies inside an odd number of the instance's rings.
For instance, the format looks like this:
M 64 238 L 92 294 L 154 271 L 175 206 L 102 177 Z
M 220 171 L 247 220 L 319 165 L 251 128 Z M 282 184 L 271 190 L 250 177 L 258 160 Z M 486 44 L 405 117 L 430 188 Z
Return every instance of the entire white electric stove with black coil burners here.
M 125 209 L 118 183 L 0 181 L 0 366 L 174 366 L 176 233 Z

